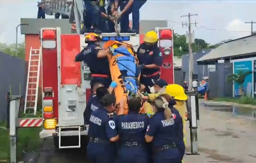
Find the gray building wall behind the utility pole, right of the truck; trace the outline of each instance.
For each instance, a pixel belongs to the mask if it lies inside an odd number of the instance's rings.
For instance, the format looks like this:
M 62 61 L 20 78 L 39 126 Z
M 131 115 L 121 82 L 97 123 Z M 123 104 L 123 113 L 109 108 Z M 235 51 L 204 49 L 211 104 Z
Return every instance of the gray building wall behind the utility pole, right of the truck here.
M 206 65 L 198 65 L 196 60 L 203 57 L 204 55 L 206 55 L 207 53 L 209 53 L 212 49 L 206 49 L 206 50 L 202 50 L 199 52 L 196 52 L 193 54 L 193 63 L 194 63 L 194 68 L 193 68 L 193 72 L 194 74 L 197 74 L 197 79 L 201 80 L 204 76 L 208 76 L 208 68 Z M 188 82 L 188 54 L 182 55 L 182 73 L 185 72 L 185 75 L 183 76 L 183 81 L 187 81 Z M 184 73 L 183 73 L 184 74 Z

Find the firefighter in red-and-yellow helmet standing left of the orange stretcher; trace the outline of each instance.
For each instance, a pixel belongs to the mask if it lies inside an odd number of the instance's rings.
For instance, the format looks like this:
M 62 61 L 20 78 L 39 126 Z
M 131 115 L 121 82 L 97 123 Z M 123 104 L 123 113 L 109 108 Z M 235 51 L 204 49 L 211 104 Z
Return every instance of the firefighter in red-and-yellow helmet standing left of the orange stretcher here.
M 114 50 L 112 48 L 103 50 L 99 45 L 100 40 L 100 35 L 88 33 L 85 36 L 85 43 L 88 43 L 87 47 L 78 53 L 75 58 L 75 62 L 84 61 L 90 68 L 91 90 L 94 83 L 101 83 L 107 88 L 112 82 L 110 78 L 108 58 L 106 56 L 110 53 L 110 51 Z

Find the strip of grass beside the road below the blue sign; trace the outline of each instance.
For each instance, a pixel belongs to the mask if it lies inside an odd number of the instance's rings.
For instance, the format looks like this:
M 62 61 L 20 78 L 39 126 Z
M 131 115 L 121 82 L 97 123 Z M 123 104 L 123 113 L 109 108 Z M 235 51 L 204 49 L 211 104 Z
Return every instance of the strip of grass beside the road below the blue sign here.
M 249 105 L 256 105 L 256 100 L 252 97 L 217 97 L 213 98 L 213 101 L 227 101 L 227 102 L 233 102 L 238 104 L 249 104 Z

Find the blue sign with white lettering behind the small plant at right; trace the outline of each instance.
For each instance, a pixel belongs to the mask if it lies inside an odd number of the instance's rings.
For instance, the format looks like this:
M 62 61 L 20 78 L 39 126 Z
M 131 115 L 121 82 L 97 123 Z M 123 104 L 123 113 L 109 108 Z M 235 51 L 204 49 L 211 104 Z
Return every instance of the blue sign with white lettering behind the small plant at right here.
M 241 61 L 234 62 L 234 74 L 237 74 L 239 71 L 253 71 L 252 70 L 252 61 Z M 236 82 L 234 83 L 234 95 L 235 97 L 252 96 L 252 74 L 249 74 L 245 77 L 243 85 L 239 85 Z

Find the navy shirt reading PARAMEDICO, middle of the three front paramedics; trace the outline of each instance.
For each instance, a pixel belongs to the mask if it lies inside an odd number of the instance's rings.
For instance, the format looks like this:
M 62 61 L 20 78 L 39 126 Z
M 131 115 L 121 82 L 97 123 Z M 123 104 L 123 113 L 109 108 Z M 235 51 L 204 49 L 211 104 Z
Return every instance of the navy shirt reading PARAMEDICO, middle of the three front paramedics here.
M 145 133 L 149 117 L 129 111 L 127 115 L 117 116 L 117 130 L 119 142 L 145 143 Z

